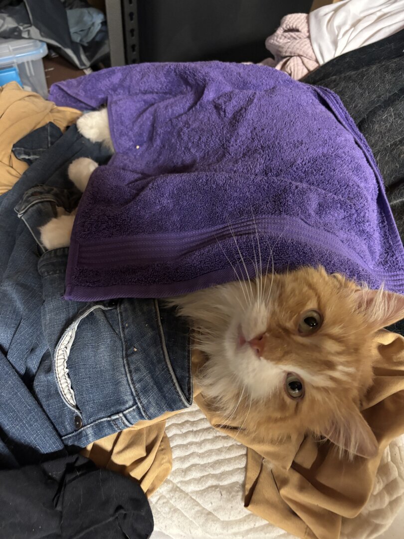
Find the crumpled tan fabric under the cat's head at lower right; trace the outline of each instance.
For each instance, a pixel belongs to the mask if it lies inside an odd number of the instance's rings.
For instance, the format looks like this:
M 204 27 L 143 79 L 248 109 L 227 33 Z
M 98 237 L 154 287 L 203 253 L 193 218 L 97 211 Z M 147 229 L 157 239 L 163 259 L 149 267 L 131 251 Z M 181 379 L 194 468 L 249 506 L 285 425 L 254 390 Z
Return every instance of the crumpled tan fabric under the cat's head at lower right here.
M 379 358 L 363 411 L 379 441 L 374 459 L 342 461 L 330 443 L 307 438 L 275 446 L 262 443 L 262 433 L 217 427 L 249 448 L 245 505 L 253 513 L 305 539 L 338 539 L 342 516 L 360 513 L 385 448 L 404 433 L 404 338 L 382 331 L 375 346 Z M 201 362 L 195 355 L 194 367 Z M 213 426 L 224 423 L 203 396 L 195 400 Z

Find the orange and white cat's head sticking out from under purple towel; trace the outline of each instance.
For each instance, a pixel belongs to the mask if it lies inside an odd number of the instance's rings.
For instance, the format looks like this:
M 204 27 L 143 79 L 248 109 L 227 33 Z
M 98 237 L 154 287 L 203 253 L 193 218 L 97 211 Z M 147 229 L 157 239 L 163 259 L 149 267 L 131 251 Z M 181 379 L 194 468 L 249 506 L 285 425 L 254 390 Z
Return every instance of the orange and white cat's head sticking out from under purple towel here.
M 247 426 L 266 424 L 277 436 L 311 431 L 352 454 L 374 454 L 360 399 L 372 383 L 373 336 L 404 317 L 403 296 L 304 268 L 177 303 L 208 356 L 201 389 L 225 414 L 248 413 Z

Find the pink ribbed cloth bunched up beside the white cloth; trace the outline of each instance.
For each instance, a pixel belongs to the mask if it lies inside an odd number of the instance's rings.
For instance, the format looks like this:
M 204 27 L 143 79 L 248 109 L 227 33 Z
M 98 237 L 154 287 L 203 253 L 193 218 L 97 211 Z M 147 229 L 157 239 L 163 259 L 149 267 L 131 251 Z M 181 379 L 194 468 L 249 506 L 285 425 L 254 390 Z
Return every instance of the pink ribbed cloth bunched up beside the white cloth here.
M 292 79 L 301 79 L 319 65 L 311 46 L 307 13 L 283 17 L 281 26 L 266 39 L 265 46 L 275 59 L 267 58 L 261 64 L 284 71 Z

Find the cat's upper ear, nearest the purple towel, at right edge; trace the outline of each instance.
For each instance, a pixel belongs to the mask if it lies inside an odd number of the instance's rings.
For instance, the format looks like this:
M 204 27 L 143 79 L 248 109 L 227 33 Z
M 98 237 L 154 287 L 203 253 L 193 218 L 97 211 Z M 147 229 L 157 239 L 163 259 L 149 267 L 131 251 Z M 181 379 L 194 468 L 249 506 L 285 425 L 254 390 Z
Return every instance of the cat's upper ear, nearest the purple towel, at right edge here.
M 404 318 L 404 296 L 380 290 L 356 291 L 358 309 L 363 312 L 370 326 L 381 329 Z

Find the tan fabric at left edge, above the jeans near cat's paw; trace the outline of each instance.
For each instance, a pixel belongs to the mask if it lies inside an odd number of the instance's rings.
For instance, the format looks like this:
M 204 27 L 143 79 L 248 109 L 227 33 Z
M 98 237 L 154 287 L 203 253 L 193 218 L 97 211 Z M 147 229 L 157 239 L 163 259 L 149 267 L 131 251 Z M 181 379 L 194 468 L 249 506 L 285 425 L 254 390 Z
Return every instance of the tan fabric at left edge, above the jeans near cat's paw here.
M 62 131 L 80 116 L 79 110 L 57 107 L 17 82 L 0 87 L 0 195 L 12 188 L 28 168 L 12 153 L 13 144 L 34 129 L 53 122 Z

